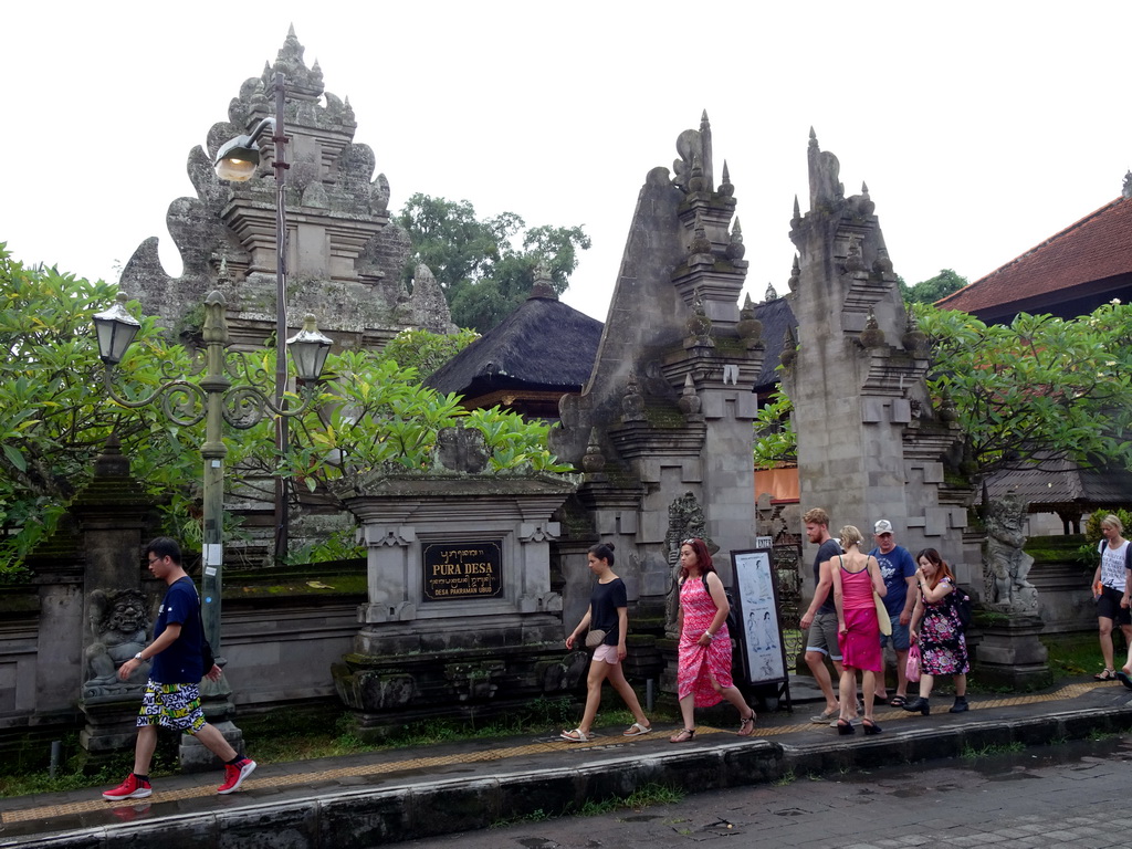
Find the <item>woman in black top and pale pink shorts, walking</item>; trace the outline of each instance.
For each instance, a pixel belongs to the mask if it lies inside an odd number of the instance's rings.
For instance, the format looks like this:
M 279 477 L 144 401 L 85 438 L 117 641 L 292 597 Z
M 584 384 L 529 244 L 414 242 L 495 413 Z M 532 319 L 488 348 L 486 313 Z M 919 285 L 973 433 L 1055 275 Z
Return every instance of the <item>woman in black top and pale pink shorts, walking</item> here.
M 625 660 L 625 634 L 628 631 L 628 599 L 625 592 L 625 582 L 614 574 L 614 547 L 607 543 L 599 543 L 590 549 L 589 555 L 590 572 L 598 578 L 593 585 L 593 593 L 590 595 L 590 609 L 585 611 L 582 621 L 577 624 L 574 632 L 566 637 L 566 648 L 573 649 L 578 634 L 588 628 L 606 632 L 606 637 L 601 645 L 593 651 L 593 660 L 590 662 L 590 675 L 586 679 L 585 712 L 577 728 L 571 731 L 563 731 L 561 738 L 571 743 L 588 743 L 593 739 L 591 728 L 593 720 L 598 715 L 598 706 L 601 704 L 601 683 L 609 679 L 614 689 L 625 700 L 625 706 L 633 713 L 636 720 L 624 732 L 625 737 L 640 737 L 649 734 L 652 726 L 649 718 L 641 710 L 641 702 L 637 701 L 633 687 L 625 680 L 625 672 L 621 671 L 621 661 Z

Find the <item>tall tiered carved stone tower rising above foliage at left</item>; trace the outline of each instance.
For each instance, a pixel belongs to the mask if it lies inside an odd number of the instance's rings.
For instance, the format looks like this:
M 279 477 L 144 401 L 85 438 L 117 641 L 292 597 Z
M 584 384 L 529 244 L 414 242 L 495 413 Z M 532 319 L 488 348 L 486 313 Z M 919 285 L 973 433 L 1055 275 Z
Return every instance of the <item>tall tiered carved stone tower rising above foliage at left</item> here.
M 213 171 L 217 148 L 274 115 L 275 77 L 286 80 L 285 125 L 290 137 L 286 177 L 289 326 L 312 312 L 337 348 L 380 348 L 405 327 L 454 331 L 448 307 L 428 269 L 419 269 L 412 294 L 402 282 L 408 234 L 389 222 L 389 182 L 374 175 L 369 145 L 354 140 L 358 122 L 350 100 L 327 92 L 323 70 L 308 68 L 292 28 L 274 63 L 245 80 L 213 125 L 205 151 L 189 153 L 195 198 L 178 198 L 166 222 L 183 260 L 171 277 L 157 256 L 157 239 L 144 241 L 122 271 L 121 286 L 147 315 L 191 338 L 199 305 L 218 289 L 237 346 L 255 346 L 275 333 L 275 180 L 273 142 L 260 136 L 261 162 L 245 183 Z

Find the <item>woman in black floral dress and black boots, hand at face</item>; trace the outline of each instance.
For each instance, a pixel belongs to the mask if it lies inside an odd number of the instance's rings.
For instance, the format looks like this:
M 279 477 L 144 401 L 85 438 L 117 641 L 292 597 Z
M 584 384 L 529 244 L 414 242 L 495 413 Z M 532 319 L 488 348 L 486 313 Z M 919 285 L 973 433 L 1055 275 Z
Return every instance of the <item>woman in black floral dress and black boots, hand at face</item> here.
M 955 576 L 934 548 L 925 548 L 916 555 L 916 563 L 919 564 L 916 569 L 919 598 L 912 610 L 909 636 L 920 650 L 920 692 L 918 698 L 904 705 L 904 710 L 928 715 L 932 712 L 928 698 L 935 676 L 950 675 L 955 681 L 955 703 L 949 713 L 962 713 L 967 710 L 967 672 L 970 666 L 967 661 L 967 637 L 951 598 L 955 591 Z

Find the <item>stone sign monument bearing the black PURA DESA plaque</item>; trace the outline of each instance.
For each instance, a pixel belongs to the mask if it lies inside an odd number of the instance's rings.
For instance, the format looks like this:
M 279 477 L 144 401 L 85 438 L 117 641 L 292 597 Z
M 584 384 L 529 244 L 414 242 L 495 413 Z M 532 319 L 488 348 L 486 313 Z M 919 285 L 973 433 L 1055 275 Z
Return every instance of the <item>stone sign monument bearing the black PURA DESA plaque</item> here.
M 441 431 L 443 446 L 474 460 L 472 432 Z M 410 721 L 515 713 L 572 694 L 585 674 L 550 589 L 560 528 L 549 520 L 575 482 L 445 469 L 375 474 L 341 494 L 369 549 L 369 601 L 332 672 L 367 739 Z

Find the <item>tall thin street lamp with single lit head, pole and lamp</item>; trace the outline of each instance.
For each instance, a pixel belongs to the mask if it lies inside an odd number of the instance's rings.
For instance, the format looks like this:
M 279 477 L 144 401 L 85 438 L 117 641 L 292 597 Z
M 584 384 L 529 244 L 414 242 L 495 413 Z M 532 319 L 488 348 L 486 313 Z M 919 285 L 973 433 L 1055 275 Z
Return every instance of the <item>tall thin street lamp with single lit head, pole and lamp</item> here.
M 256 138 L 268 127 L 272 128 L 272 168 L 275 171 L 275 405 L 285 410 L 286 400 L 286 352 L 280 342 L 286 337 L 286 172 L 291 164 L 286 161 L 286 132 L 284 128 L 284 103 L 286 101 L 286 75 L 276 72 L 275 117 L 265 118 L 246 136 L 237 136 L 216 152 L 214 166 L 216 175 L 231 182 L 250 180 L 259 165 L 259 145 Z M 288 418 L 281 415 L 275 423 L 275 447 L 282 455 L 288 447 Z M 286 504 L 286 482 L 275 477 L 275 559 L 286 557 L 290 535 L 290 516 Z

